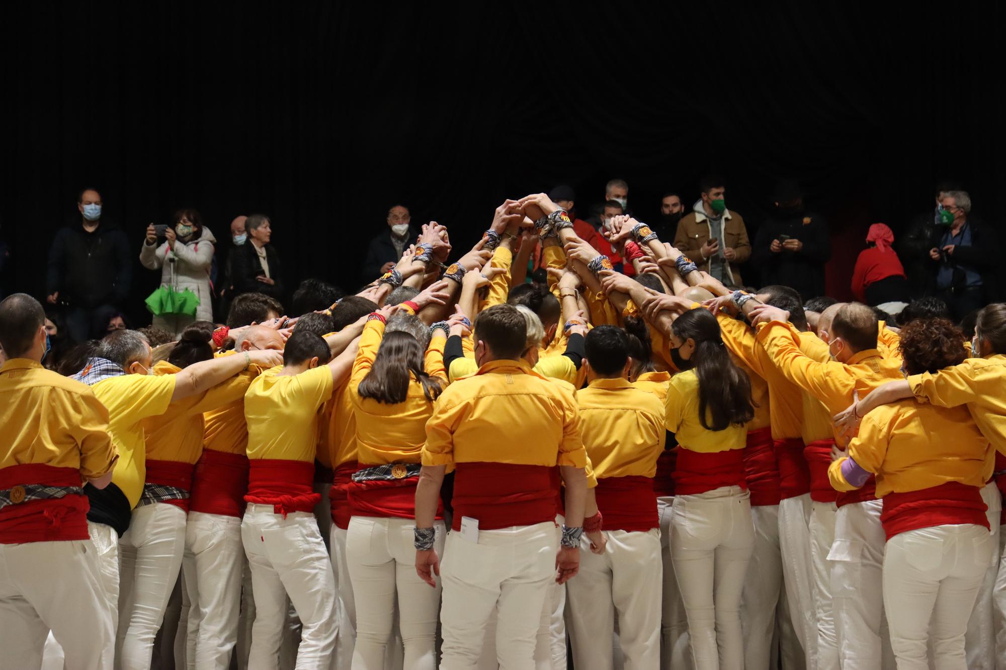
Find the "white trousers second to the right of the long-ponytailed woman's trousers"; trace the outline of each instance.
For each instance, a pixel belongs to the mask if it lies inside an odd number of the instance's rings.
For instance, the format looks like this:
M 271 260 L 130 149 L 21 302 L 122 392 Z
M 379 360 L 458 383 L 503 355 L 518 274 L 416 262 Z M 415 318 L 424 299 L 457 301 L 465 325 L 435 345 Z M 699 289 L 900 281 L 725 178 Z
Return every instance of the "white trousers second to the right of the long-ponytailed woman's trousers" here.
M 804 649 L 808 670 L 817 670 L 817 622 L 814 614 L 814 560 L 811 557 L 811 494 L 779 503 L 779 551 L 793 630 Z

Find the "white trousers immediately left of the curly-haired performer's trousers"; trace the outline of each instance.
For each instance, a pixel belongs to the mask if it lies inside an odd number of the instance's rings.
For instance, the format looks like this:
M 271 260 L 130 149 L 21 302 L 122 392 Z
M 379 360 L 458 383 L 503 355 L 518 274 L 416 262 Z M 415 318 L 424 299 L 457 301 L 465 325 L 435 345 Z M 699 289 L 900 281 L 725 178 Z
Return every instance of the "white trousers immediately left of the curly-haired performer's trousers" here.
M 883 665 L 883 503 L 868 500 L 838 508 L 831 561 L 835 629 L 843 670 Z

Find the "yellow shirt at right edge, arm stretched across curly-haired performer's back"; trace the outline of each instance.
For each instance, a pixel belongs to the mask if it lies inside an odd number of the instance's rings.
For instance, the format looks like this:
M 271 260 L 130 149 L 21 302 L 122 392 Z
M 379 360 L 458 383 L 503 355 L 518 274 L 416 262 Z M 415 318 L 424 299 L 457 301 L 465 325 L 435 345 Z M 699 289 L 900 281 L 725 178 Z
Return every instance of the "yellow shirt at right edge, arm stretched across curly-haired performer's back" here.
M 1006 455 L 1006 355 L 968 358 L 936 374 L 912 374 L 908 384 L 920 401 L 944 407 L 967 404 L 982 434 Z

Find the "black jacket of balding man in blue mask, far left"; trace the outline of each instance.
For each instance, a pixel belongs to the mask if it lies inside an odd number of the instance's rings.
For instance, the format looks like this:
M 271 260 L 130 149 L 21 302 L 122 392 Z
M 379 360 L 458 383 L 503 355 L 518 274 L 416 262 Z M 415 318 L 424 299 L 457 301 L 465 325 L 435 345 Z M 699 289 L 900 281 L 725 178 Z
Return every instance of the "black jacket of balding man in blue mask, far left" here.
M 126 233 L 101 219 L 94 232 L 75 219 L 56 232 L 49 249 L 46 295 L 74 307 L 123 307 L 133 280 L 133 253 Z

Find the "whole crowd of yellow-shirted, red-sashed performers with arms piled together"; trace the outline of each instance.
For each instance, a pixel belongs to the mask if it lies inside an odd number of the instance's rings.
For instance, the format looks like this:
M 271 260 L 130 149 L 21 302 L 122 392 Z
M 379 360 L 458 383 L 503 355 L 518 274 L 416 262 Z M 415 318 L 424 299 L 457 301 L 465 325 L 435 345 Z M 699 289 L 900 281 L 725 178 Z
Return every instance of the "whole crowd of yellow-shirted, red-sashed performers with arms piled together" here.
M 603 234 L 629 274 L 507 200 L 64 374 L 0 302 L 0 666 L 1006 669 L 1006 305 L 894 328 Z

